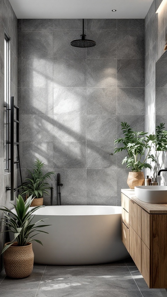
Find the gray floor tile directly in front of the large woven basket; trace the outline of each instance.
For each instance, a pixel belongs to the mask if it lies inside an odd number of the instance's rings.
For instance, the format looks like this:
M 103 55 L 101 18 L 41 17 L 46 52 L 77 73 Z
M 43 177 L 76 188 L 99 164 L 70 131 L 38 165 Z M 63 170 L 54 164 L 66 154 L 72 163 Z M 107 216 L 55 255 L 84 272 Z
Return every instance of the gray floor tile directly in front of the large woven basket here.
M 37 290 L 41 277 L 29 276 L 24 279 L 5 277 L 0 284 L 0 290 Z

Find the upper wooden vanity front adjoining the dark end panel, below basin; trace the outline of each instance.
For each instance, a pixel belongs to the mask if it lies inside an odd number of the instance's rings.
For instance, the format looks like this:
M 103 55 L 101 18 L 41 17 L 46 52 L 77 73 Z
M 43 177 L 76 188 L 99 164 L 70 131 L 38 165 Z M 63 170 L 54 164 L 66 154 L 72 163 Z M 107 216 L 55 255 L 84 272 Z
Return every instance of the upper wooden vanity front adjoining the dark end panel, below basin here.
M 152 245 L 152 214 L 141 208 L 141 239 L 150 249 Z

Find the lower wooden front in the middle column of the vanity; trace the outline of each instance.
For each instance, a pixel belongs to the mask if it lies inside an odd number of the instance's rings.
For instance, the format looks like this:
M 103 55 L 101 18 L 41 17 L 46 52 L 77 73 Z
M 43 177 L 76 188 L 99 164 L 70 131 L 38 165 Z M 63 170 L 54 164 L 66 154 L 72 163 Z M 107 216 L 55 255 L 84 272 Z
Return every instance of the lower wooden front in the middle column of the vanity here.
M 129 253 L 141 273 L 141 238 L 129 227 Z

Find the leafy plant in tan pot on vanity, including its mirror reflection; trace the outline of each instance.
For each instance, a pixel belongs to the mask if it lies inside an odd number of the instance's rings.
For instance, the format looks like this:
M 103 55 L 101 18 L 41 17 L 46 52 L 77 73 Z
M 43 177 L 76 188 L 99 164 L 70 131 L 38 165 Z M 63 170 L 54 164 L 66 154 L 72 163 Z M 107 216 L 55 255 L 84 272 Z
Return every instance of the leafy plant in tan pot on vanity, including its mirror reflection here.
M 122 165 L 126 164 L 126 168 L 130 168 L 127 184 L 130 189 L 135 186 L 144 184 L 144 173 L 142 169 L 152 169 L 152 165 L 148 163 L 157 162 L 155 156 L 151 153 L 152 149 L 157 147 L 159 150 L 167 145 L 167 132 L 163 130 L 164 124 L 156 127 L 156 134 L 147 135 L 147 132 L 134 131 L 126 122 L 121 122 L 121 130 L 123 137 L 114 141 L 114 144 L 121 144 L 120 147 L 114 148 L 114 154 L 126 151 L 127 156 L 122 160 Z M 165 133 L 166 132 L 166 133 Z M 161 149 L 160 149 L 161 148 Z M 113 155 L 113 153 L 111 153 Z

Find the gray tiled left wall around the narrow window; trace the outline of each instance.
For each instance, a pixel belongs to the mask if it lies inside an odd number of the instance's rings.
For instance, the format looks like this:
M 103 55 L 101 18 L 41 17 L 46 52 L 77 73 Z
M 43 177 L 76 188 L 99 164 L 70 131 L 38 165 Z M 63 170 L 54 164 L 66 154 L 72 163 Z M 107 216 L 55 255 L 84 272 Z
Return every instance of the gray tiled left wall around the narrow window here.
M 0 1 L 0 207 L 10 205 L 10 173 L 4 174 L 4 30 L 10 36 L 10 95 L 14 96 L 17 104 L 17 18 L 8 0 Z M 15 170 L 15 185 L 17 183 L 17 170 Z M 0 212 L 0 218 L 2 213 Z M 6 241 L 6 233 L 0 234 L 0 254 Z M 0 258 L 0 271 L 2 268 Z

